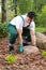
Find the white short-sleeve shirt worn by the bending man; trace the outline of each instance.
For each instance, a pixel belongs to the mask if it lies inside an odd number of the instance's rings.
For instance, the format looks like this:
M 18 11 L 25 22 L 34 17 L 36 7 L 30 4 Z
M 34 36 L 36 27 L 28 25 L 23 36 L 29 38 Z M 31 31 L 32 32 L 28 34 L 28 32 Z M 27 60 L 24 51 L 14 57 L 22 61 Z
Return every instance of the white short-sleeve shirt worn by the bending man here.
M 27 15 L 21 15 L 21 16 L 25 22 L 22 20 L 20 16 L 16 16 L 10 22 L 10 24 L 16 26 L 17 29 L 22 29 L 22 27 L 27 27 L 29 25 L 28 23 L 26 23 Z M 35 29 L 35 24 L 34 22 L 31 22 L 30 30 L 34 30 L 34 29 Z

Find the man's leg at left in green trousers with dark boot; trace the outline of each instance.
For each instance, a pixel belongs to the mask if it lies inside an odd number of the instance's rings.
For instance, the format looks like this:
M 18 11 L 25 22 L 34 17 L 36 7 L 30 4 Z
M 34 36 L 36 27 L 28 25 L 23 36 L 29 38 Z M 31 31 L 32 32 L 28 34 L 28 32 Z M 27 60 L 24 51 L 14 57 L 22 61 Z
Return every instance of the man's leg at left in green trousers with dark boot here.
M 15 40 L 17 38 L 17 30 L 15 29 L 14 26 L 12 26 L 10 24 L 7 27 L 7 31 L 10 32 L 9 48 L 10 48 L 10 53 L 11 53 L 14 50 L 14 43 L 15 43 Z

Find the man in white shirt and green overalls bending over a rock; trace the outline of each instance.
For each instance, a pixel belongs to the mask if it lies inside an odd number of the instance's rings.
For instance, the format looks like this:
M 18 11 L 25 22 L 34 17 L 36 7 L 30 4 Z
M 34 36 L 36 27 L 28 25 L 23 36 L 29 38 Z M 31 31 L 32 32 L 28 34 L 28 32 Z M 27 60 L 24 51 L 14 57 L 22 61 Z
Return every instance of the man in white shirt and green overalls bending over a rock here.
M 24 52 L 24 45 L 28 44 L 29 41 L 32 42 L 32 45 L 36 45 L 36 38 L 35 38 L 35 24 L 34 24 L 34 12 L 29 12 L 27 15 L 19 15 L 14 17 L 7 27 L 10 36 L 10 43 L 9 43 L 9 53 L 14 53 L 14 43 L 17 38 L 19 37 L 19 52 Z M 22 36 L 25 36 L 25 40 L 22 40 Z

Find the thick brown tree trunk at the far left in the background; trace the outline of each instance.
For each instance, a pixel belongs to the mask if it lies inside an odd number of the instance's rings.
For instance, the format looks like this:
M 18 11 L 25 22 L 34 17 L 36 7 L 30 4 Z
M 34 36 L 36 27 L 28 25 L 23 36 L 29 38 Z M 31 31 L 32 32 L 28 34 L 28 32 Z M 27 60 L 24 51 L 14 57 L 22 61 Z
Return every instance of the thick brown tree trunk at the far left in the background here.
M 2 2 L 2 23 L 6 22 L 6 0 L 1 0 Z

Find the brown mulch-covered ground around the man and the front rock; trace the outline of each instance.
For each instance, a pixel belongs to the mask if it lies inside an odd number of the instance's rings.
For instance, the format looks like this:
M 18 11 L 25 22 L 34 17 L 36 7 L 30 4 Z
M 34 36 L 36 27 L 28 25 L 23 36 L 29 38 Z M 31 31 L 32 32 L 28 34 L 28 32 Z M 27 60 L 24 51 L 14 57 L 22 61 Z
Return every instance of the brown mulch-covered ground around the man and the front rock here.
M 7 38 L 0 39 L 0 70 L 46 70 L 46 57 L 42 57 L 41 53 L 43 50 L 40 50 L 39 55 L 34 54 L 25 54 L 18 53 L 17 46 L 15 44 L 15 55 L 17 60 L 14 65 L 10 65 L 5 60 L 5 56 L 9 51 Z

